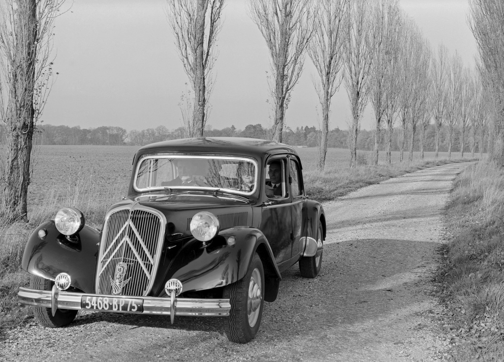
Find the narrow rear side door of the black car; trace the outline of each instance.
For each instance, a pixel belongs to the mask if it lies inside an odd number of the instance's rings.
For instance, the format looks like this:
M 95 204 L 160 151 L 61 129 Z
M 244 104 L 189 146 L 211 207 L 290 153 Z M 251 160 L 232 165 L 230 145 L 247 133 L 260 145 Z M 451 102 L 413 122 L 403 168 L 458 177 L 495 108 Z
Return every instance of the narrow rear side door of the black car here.
M 305 223 L 307 219 L 306 198 L 303 191 L 301 165 L 295 156 L 289 157 L 289 186 L 292 217 L 292 257 L 304 248 Z

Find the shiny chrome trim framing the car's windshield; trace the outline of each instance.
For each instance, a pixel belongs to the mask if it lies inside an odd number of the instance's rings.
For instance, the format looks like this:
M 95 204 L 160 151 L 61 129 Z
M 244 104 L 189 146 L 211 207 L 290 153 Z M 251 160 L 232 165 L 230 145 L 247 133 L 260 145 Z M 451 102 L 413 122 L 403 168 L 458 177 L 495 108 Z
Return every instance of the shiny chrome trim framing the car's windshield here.
M 138 179 L 138 171 L 140 170 L 140 165 L 145 159 L 149 158 L 194 158 L 194 159 L 224 159 L 224 160 L 231 160 L 231 161 L 244 161 L 244 162 L 251 162 L 254 164 L 256 167 L 256 174 L 254 176 L 254 189 L 249 192 L 244 192 L 244 191 L 239 191 L 235 189 L 221 189 L 221 188 L 215 188 L 215 187 L 198 187 L 197 190 L 209 190 L 209 191 L 215 191 L 215 190 L 226 190 L 231 193 L 236 193 L 240 195 L 246 195 L 250 196 L 254 194 L 257 189 L 258 189 L 258 175 L 259 175 L 259 166 L 257 161 L 254 158 L 248 158 L 248 157 L 241 157 L 241 156 L 222 156 L 222 155 L 188 155 L 188 154 L 169 154 L 169 153 L 163 153 L 163 154 L 149 154 L 149 155 L 144 155 L 142 158 L 140 158 L 137 162 L 137 167 L 135 169 L 135 178 L 133 182 L 133 189 L 138 192 L 147 192 L 147 191 L 153 191 L 153 190 L 165 190 L 168 188 L 167 186 L 159 186 L 159 187 L 152 187 L 152 188 L 144 188 L 140 189 L 137 187 L 137 179 Z M 172 186 L 169 187 L 169 189 L 180 189 L 180 190 L 194 190 L 194 187 L 187 187 L 187 186 Z

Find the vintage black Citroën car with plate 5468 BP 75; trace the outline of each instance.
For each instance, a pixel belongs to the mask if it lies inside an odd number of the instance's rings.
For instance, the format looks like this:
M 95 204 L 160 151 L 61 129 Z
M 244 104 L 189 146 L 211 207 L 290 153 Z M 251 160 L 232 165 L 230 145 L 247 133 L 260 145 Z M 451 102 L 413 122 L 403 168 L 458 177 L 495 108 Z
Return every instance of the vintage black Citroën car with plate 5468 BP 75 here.
M 280 273 L 299 262 L 314 278 L 326 220 L 304 194 L 301 162 L 285 144 L 249 138 L 154 143 L 135 155 L 128 197 L 112 205 L 102 230 L 63 208 L 40 225 L 22 267 L 46 327 L 78 310 L 227 316 L 231 341 L 259 330 L 264 301 L 277 298 Z

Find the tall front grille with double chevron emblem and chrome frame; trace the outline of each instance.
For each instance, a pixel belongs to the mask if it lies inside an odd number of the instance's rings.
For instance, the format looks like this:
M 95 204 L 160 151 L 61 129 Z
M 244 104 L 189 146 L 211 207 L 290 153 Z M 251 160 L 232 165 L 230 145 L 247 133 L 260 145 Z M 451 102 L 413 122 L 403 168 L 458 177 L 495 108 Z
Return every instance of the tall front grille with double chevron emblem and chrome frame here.
M 147 296 L 156 277 L 165 225 L 161 213 L 144 207 L 108 214 L 98 255 L 96 293 Z

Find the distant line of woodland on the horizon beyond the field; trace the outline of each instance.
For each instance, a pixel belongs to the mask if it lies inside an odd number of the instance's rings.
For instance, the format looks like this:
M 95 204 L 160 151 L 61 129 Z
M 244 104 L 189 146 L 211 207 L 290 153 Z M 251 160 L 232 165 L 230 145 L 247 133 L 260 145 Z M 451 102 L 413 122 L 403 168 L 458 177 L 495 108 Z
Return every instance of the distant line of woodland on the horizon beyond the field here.
M 384 131 L 385 132 L 385 131 Z M 433 126 L 427 130 L 427 141 L 425 151 L 434 151 Z M 297 127 L 291 129 L 287 127 L 284 131 L 284 143 L 291 146 L 317 147 L 319 144 L 321 131 L 316 127 Z M 402 131 L 397 128 L 394 131 L 392 150 L 399 150 L 399 144 Z M 214 129 L 208 126 L 205 130 L 206 137 L 247 137 L 271 139 L 271 129 L 263 128 L 261 124 L 247 125 L 243 130 L 236 127 L 226 127 L 223 129 Z M 385 136 L 385 135 L 383 135 Z M 131 145 L 143 146 L 149 143 L 161 142 L 171 139 L 184 138 L 182 127 L 169 130 L 165 126 L 148 128 L 142 131 L 132 130 L 128 132 L 121 127 L 101 126 L 98 128 L 80 128 L 68 126 L 52 126 L 49 124 L 38 126 L 34 141 L 39 145 Z M 385 150 L 385 137 L 382 138 L 381 149 Z M 348 131 L 334 128 L 329 131 L 328 146 L 330 148 L 348 148 Z M 0 129 L 0 141 L 4 141 L 4 132 Z M 415 151 L 418 150 L 419 141 L 415 140 Z M 465 151 L 469 150 L 470 142 L 466 142 Z M 453 150 L 459 151 L 459 142 L 456 138 Z M 357 149 L 373 149 L 373 131 L 361 130 L 358 137 Z M 440 142 L 439 151 L 447 151 L 448 145 L 445 142 L 445 134 Z

